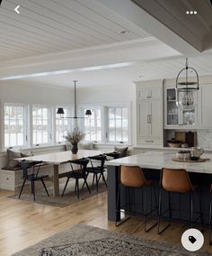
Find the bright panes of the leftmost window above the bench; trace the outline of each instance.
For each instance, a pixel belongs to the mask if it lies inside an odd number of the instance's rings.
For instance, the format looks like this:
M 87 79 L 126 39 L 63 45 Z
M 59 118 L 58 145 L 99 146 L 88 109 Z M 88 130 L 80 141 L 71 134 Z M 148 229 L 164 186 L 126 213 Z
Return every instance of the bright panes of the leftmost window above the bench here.
M 26 144 L 25 106 L 4 105 L 4 148 Z

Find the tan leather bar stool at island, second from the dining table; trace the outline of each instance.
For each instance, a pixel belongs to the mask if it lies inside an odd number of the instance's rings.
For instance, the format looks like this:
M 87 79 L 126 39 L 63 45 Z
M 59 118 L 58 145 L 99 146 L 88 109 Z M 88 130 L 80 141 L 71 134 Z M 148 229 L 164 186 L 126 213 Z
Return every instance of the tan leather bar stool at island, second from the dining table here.
M 162 209 L 162 195 L 163 191 L 168 192 L 168 200 L 169 200 L 169 208 L 163 211 L 161 213 Z M 158 234 L 163 233 L 164 230 L 166 230 L 171 224 L 167 224 L 163 230 L 160 230 L 160 223 L 161 223 L 161 217 L 164 213 L 169 211 L 169 218 L 172 218 L 172 208 L 171 208 L 171 193 L 177 193 L 177 194 L 190 194 L 190 227 L 193 226 L 194 223 L 197 222 L 197 220 L 200 217 L 201 224 L 202 224 L 202 214 L 201 214 L 201 199 L 200 199 L 200 193 L 199 193 L 199 216 L 193 221 L 193 193 L 195 191 L 199 190 L 199 186 L 193 185 L 190 182 L 190 177 L 188 175 L 188 172 L 185 169 L 166 169 L 163 168 L 161 170 L 161 178 L 160 178 L 160 193 L 159 193 L 159 210 L 158 210 Z M 180 196 L 181 197 L 181 196 Z M 180 203 L 181 205 L 181 203 Z M 180 217 L 181 217 L 181 207 L 180 207 Z

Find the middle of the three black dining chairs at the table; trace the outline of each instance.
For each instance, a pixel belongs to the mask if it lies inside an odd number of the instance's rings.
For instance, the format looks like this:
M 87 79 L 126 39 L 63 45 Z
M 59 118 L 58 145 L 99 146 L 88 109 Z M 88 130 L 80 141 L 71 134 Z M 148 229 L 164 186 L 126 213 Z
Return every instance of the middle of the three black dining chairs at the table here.
M 75 191 L 77 190 L 77 197 L 79 199 L 79 179 L 84 179 L 84 184 L 86 185 L 89 194 L 91 194 L 90 188 L 88 187 L 88 183 L 87 183 L 87 174 L 86 174 L 86 168 L 87 165 L 89 163 L 89 160 L 84 158 L 84 159 L 79 159 L 79 160 L 69 160 L 68 161 L 71 165 L 71 171 L 66 173 L 66 185 L 64 187 L 63 193 L 62 193 L 62 197 L 64 196 L 68 181 L 70 178 L 74 178 L 75 179 Z M 80 168 L 79 169 L 75 169 L 74 168 L 74 164 L 78 165 Z M 84 185 L 83 185 L 84 187 Z M 82 187 L 82 189 L 83 189 Z

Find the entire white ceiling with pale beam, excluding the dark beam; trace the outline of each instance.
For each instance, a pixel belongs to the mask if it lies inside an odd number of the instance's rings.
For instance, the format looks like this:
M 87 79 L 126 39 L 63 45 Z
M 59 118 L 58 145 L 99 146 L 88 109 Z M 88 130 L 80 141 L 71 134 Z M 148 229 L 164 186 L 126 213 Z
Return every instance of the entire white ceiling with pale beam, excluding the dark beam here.
M 14 13 L 16 5 L 21 14 Z M 212 52 L 189 60 L 199 75 L 212 74 Z M 127 61 L 132 63 L 128 67 L 30 78 Z M 19 83 L 73 87 L 77 79 L 79 87 L 123 87 L 138 80 L 175 78 L 184 62 L 179 51 L 96 0 L 4 0 L 0 8 L 0 83 L 29 74 Z

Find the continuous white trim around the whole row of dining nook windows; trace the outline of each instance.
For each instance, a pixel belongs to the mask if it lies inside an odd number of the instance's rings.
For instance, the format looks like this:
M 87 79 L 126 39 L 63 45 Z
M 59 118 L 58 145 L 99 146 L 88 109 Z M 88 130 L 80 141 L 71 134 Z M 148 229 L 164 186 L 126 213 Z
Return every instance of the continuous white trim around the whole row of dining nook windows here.
M 24 105 L 25 106 L 25 114 L 26 114 L 26 135 L 27 135 L 27 143 L 26 145 L 22 146 L 22 149 L 35 149 L 35 148 L 48 148 L 48 147 L 52 147 L 52 146 L 58 146 L 58 145 L 62 145 L 63 143 L 57 143 L 56 142 L 56 109 L 57 107 L 67 107 L 71 109 L 71 116 L 73 116 L 73 105 L 66 105 L 66 104 L 57 104 L 57 105 L 42 105 L 42 104 L 30 104 L 30 103 L 21 103 L 21 102 L 9 102 L 9 101 L 4 101 L 3 99 L 0 100 L 0 121 L 1 121 L 1 125 L 0 125 L 0 133 L 1 133 L 1 145 L 0 145 L 0 149 L 1 151 L 5 151 L 4 148 L 4 104 L 8 104 L 8 105 Z M 80 116 L 82 114 L 84 114 L 82 112 L 82 110 L 85 109 L 91 109 L 91 108 L 101 108 L 101 116 L 102 116 L 102 141 L 101 142 L 97 142 L 97 144 L 102 144 L 102 145 L 120 145 L 120 143 L 118 142 L 107 142 L 106 140 L 106 132 L 107 132 L 107 115 L 106 115 L 106 109 L 107 107 L 128 107 L 128 144 L 131 144 L 131 138 L 132 138 L 132 103 L 131 102 L 120 102 L 120 103 L 85 103 L 85 104 L 81 104 L 78 105 L 78 113 Z M 49 108 L 49 134 L 51 134 L 52 139 L 49 140 L 49 143 L 45 143 L 45 144 L 40 144 L 39 146 L 36 146 L 35 144 L 32 143 L 32 107 L 48 107 Z M 73 120 L 74 121 L 74 120 Z M 72 121 L 72 122 L 73 122 Z M 79 122 L 79 121 L 78 121 Z M 78 123 L 79 125 L 82 125 L 81 123 Z M 72 127 L 74 127 L 75 123 L 72 123 Z M 122 143 L 121 143 L 122 144 Z M 20 148 L 20 147 L 19 147 Z

